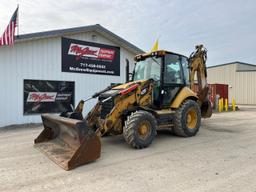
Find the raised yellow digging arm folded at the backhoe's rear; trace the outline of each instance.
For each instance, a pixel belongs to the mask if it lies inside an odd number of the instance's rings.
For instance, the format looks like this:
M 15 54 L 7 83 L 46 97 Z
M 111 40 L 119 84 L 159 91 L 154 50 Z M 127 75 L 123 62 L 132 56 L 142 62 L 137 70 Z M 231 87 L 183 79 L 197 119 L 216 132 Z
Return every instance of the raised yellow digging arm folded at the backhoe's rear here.
M 196 51 L 189 57 L 190 86 L 195 91 L 195 76 L 198 82 L 198 104 L 201 107 L 202 117 L 212 115 L 211 103 L 209 101 L 209 87 L 207 83 L 206 69 L 207 50 L 203 45 L 197 45 Z

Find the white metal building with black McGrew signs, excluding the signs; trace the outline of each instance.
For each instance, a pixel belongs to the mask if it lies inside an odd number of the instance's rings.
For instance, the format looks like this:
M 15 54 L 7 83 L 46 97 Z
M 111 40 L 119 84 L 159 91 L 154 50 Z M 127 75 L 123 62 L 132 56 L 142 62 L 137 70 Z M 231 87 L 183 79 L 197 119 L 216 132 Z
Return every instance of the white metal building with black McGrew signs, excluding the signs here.
M 62 37 L 112 45 L 120 48 L 120 75 L 62 72 Z M 75 82 L 75 105 L 110 83 L 125 82 L 125 60 L 133 68 L 133 57 L 143 51 L 100 25 L 24 34 L 14 46 L 0 47 L 0 127 L 11 124 L 38 123 L 40 115 L 24 115 L 24 79 Z M 95 101 L 85 104 L 85 112 Z

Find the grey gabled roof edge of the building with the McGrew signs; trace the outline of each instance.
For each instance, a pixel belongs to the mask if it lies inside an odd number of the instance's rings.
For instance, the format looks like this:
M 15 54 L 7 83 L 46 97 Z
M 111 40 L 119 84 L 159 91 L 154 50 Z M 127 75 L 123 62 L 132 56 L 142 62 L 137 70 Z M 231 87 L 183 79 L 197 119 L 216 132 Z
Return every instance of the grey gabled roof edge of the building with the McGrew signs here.
M 37 32 L 37 33 L 22 34 L 22 35 L 16 36 L 16 41 L 17 42 L 31 41 L 31 40 L 38 40 L 43 38 L 59 37 L 63 35 L 73 35 L 77 33 L 90 32 L 90 31 L 94 31 L 101 34 L 102 36 L 116 43 L 117 45 L 120 45 L 135 54 L 144 53 L 142 49 L 136 47 L 135 45 L 131 44 L 130 42 L 119 37 L 118 35 L 114 34 L 113 32 L 109 31 L 108 29 L 102 27 L 99 24 L 82 26 L 82 27 L 73 27 L 73 28 L 67 28 L 67 29 L 43 31 L 43 32 Z

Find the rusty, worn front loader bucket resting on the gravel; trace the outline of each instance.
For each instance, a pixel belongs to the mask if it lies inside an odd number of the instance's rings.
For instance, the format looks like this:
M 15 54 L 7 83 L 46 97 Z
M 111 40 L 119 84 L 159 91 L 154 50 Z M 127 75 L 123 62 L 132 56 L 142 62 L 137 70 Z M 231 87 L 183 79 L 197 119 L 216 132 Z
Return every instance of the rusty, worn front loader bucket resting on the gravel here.
M 85 121 L 43 114 L 44 130 L 34 146 L 65 170 L 100 157 L 100 138 Z

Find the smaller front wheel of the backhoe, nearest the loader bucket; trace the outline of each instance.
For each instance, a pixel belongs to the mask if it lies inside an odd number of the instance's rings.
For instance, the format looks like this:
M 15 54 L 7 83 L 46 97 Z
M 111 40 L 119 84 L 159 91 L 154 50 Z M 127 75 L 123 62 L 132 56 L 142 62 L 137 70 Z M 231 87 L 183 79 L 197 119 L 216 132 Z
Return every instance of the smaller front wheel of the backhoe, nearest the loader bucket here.
M 156 118 L 147 111 L 136 111 L 128 116 L 123 129 L 125 141 L 133 148 L 148 147 L 156 136 Z

